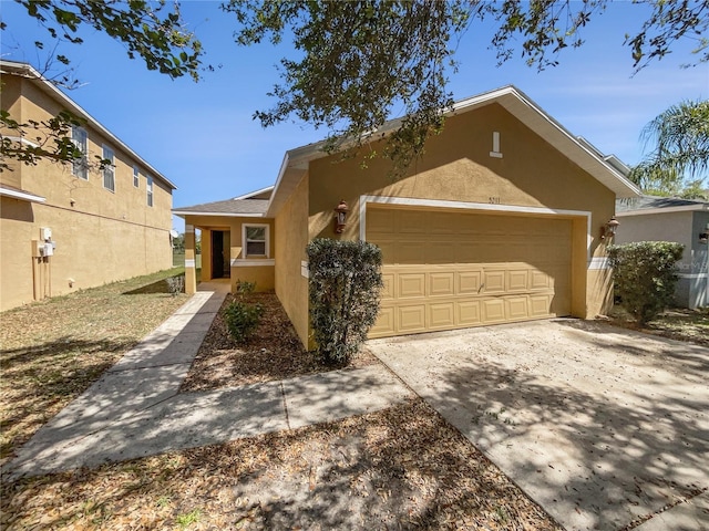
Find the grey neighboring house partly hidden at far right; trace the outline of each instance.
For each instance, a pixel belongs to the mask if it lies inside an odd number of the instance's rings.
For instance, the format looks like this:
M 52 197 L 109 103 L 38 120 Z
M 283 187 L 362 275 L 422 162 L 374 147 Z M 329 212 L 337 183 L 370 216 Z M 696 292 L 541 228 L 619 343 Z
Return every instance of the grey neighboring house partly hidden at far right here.
M 675 302 L 691 309 L 709 306 L 709 202 L 644 196 L 617 201 L 616 211 L 621 222 L 616 243 L 676 241 L 685 246 Z

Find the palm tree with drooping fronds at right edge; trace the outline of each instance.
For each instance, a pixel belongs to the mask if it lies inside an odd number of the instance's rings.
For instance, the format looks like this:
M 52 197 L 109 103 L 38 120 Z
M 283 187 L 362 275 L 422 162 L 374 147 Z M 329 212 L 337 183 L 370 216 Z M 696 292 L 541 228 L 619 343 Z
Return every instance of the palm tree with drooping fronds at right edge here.
M 640 134 L 650 154 L 630 173 L 645 191 L 701 189 L 709 169 L 709 101 L 672 105 Z

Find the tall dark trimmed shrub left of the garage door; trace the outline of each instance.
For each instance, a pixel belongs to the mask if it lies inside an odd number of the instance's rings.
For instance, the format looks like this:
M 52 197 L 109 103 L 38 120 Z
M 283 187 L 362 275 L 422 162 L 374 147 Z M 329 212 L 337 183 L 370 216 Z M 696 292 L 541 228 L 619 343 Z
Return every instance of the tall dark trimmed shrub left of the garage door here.
M 364 241 L 319 238 L 307 247 L 310 324 L 326 363 L 345 364 L 377 321 L 381 250 Z

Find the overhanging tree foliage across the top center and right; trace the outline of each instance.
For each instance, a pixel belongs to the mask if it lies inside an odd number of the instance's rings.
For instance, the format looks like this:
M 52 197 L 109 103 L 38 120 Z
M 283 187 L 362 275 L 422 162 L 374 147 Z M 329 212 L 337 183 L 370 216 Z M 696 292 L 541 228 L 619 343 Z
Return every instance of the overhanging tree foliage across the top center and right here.
M 240 24 L 242 45 L 292 37 L 296 59 L 281 60 L 281 82 L 270 95 L 276 104 L 254 114 L 263 126 L 295 117 L 328 129 L 325 150 L 362 147 L 384 136 L 379 131 L 392 117 L 383 155 L 394 174 L 424 153 L 429 136 L 443 127 L 451 108 L 446 69 L 454 72 L 454 45 L 473 22 L 493 19 L 491 46 L 499 64 L 518 50 L 537 70 L 558 64 L 566 48 L 578 48 L 580 31 L 603 14 L 608 0 L 229 0 L 223 4 Z M 628 37 L 633 66 L 661 59 L 678 39 L 697 38 L 698 61 L 709 60 L 709 0 L 666 2 L 637 0 L 651 8 L 640 32 Z M 459 51 L 460 53 L 460 51 Z M 374 135 L 376 133 L 381 133 Z M 349 155 L 352 153 L 350 152 Z M 367 157 L 378 155 L 369 152 Z

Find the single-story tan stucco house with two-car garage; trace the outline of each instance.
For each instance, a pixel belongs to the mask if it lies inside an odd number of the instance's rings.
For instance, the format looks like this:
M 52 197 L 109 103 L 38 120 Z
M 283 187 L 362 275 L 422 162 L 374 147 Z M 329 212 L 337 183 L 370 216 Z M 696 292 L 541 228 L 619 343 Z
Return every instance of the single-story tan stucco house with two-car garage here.
M 606 312 L 609 239 L 602 231 L 616 197 L 635 197 L 637 188 L 513 86 L 453 108 L 399 179 L 384 159 L 362 168 L 359 158 L 328 156 L 316 144 L 286 153 L 273 190 L 175 209 L 186 221 L 187 289 L 196 289 L 198 228 L 202 279 L 216 269 L 233 287 L 275 288 L 306 345 L 306 246 L 321 237 L 382 248 L 384 290 L 371 337 Z M 397 124 L 372 135 L 374 149 Z M 349 212 L 336 233 L 340 200 Z M 205 263 L 214 263 L 210 272 Z

